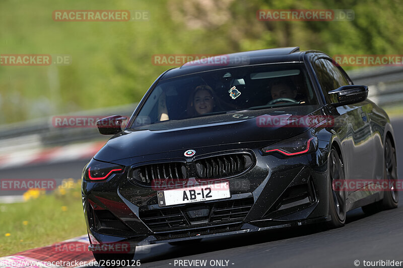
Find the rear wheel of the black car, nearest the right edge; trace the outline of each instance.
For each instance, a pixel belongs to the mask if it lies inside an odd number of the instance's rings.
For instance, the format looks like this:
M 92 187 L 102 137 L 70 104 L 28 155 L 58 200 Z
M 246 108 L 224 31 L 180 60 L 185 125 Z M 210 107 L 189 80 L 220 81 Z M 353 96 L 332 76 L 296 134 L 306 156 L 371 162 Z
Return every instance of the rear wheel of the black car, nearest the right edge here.
M 384 192 L 383 199 L 381 201 L 366 205 L 362 207 L 365 214 L 372 215 L 382 210 L 397 208 L 399 203 L 398 191 L 396 189 L 397 180 L 397 161 L 396 150 L 392 145 L 389 137 L 385 139 L 384 145 L 384 180 L 391 181 L 391 188 L 389 191 Z

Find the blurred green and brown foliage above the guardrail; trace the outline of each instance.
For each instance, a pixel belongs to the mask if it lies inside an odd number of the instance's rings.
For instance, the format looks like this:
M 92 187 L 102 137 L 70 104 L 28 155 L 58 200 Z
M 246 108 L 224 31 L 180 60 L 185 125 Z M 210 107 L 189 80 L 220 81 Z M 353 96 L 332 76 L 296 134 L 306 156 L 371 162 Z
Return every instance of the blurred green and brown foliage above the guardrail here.
M 56 22 L 54 10 L 147 10 L 149 21 Z M 349 22 L 260 22 L 259 9 L 348 9 Z M 170 66 L 154 54 L 300 46 L 401 54 L 403 2 L 291 0 L 1 0 L 0 54 L 69 54 L 68 66 L 0 66 L 0 124 L 138 102 Z M 172 66 L 174 67 L 174 66 Z

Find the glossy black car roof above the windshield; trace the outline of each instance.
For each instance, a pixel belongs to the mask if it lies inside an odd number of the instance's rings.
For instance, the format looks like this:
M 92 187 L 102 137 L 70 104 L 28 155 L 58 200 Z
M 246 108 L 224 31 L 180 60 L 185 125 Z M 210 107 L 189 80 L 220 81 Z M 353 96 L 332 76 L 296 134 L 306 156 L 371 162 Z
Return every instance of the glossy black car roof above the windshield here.
M 281 47 L 217 55 L 204 59 L 203 62 L 196 60 L 194 62 L 187 62 L 179 68 L 173 68 L 167 71 L 161 77 L 161 80 L 196 72 L 210 71 L 235 66 L 280 62 L 301 62 L 303 61 L 302 55 L 305 52 L 306 51 L 300 51 L 299 47 Z M 209 59 L 211 61 L 209 61 Z M 209 62 L 206 64 L 206 61 Z

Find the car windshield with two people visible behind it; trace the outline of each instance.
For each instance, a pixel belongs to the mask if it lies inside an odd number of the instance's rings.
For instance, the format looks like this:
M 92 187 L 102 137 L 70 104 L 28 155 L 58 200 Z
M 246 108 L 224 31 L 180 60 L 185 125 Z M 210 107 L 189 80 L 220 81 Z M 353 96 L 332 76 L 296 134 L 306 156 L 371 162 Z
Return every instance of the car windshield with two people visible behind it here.
M 239 111 L 317 104 L 302 63 L 233 67 L 159 81 L 130 128 L 171 129 Z

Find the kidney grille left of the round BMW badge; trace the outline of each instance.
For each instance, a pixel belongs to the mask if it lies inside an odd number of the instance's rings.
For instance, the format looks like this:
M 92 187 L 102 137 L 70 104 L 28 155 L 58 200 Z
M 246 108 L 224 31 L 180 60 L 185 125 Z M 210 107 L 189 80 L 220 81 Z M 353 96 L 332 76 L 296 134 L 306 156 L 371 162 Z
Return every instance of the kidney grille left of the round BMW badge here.
M 146 186 L 151 186 L 152 183 L 154 185 L 183 185 L 187 178 L 187 168 L 181 162 L 143 165 L 133 168 L 130 178 Z

